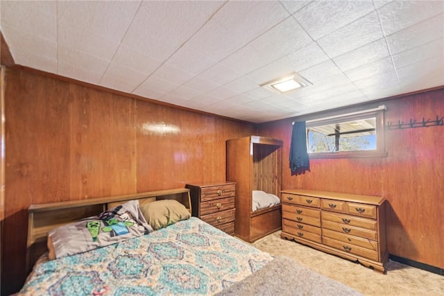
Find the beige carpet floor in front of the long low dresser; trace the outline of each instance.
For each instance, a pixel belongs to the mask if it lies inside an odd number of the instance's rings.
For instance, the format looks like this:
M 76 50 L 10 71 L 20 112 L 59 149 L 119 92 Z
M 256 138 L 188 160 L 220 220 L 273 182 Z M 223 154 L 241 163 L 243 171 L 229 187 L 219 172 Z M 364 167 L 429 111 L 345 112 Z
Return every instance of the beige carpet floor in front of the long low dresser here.
M 364 295 L 443 295 L 444 277 L 388 261 L 387 273 L 280 238 L 275 232 L 253 243 L 275 256 L 285 255 L 322 275 L 335 279 Z M 283 275 L 284 276 L 284 275 Z

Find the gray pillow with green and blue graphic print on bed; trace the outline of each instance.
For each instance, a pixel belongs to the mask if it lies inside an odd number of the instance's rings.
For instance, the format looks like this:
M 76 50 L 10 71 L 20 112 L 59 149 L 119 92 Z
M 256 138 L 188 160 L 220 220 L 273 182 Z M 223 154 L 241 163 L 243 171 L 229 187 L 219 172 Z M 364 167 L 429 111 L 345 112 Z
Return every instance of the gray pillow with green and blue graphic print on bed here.
M 48 233 L 49 259 L 83 253 L 152 232 L 138 200 L 104 211 Z

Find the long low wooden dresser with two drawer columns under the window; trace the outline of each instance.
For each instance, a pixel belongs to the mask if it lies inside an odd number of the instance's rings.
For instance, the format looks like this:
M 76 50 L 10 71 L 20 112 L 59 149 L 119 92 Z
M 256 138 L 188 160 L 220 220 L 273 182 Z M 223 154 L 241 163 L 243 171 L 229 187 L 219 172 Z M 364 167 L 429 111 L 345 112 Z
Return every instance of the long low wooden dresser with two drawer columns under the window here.
M 282 238 L 386 271 L 385 199 L 289 189 L 282 191 Z

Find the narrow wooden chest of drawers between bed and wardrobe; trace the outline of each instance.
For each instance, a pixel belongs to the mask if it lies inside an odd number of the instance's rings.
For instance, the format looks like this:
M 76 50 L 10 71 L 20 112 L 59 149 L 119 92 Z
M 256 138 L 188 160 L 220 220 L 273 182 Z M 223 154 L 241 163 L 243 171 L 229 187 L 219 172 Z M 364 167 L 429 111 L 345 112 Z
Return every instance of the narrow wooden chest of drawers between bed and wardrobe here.
M 191 215 L 223 232 L 234 234 L 236 183 L 187 184 L 191 195 Z

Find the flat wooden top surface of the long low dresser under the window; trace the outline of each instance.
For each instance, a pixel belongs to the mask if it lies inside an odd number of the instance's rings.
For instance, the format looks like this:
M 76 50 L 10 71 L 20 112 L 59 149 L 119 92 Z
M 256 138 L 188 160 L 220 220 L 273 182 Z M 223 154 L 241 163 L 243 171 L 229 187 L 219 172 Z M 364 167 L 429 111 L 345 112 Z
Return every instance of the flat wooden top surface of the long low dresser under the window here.
M 375 205 L 382 204 L 385 200 L 385 198 L 383 198 L 382 196 L 339 193 L 339 192 L 319 191 L 311 189 L 286 189 L 282 190 L 281 193 L 307 195 L 316 198 L 327 198 L 332 200 L 343 200 L 346 202 L 359 202 L 359 203 L 375 204 Z

